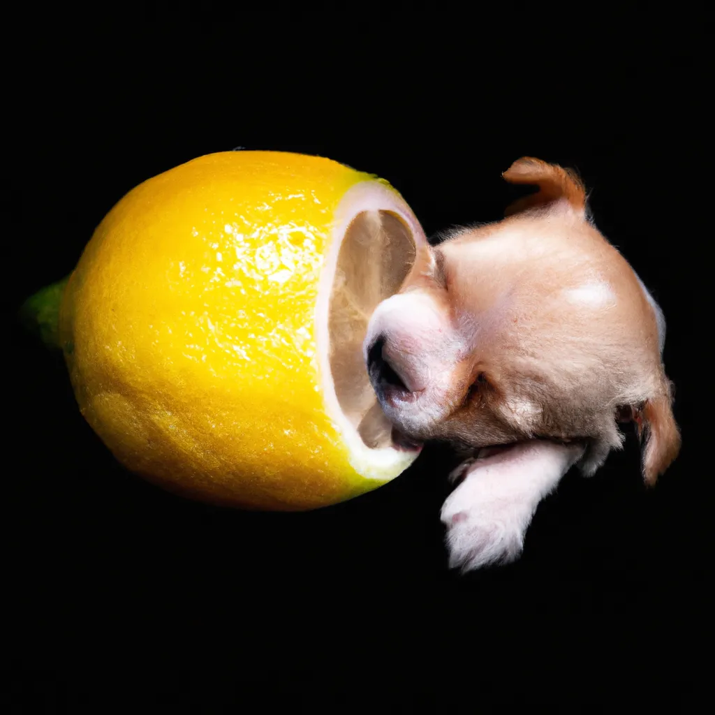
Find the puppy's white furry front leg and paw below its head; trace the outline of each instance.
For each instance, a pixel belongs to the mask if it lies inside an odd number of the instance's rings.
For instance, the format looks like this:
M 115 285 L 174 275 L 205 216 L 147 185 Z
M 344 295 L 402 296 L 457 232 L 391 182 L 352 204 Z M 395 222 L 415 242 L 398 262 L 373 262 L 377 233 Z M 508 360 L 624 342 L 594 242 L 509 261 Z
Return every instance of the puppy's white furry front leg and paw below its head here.
M 463 571 L 514 561 L 538 503 L 583 453 L 583 447 L 531 440 L 453 472 L 463 482 L 442 507 L 450 566 Z

